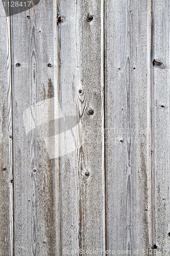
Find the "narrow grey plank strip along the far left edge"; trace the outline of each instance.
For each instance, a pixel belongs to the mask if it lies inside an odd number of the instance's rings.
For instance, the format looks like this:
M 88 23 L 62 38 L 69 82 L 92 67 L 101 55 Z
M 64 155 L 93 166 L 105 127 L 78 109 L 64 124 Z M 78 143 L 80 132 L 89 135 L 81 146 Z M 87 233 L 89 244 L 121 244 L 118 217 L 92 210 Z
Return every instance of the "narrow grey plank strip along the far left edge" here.
M 13 176 L 10 20 L 0 3 L 0 255 L 13 255 Z

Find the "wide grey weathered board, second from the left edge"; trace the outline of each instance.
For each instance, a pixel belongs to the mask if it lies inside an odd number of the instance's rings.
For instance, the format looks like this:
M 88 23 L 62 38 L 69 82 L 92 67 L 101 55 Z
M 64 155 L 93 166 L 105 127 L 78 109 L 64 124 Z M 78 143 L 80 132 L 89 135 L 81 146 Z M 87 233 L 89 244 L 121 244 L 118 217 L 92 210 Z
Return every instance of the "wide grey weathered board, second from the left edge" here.
M 56 11 L 55 1 L 40 1 L 11 16 L 15 255 L 60 254 L 58 160 L 48 140 L 57 118 Z

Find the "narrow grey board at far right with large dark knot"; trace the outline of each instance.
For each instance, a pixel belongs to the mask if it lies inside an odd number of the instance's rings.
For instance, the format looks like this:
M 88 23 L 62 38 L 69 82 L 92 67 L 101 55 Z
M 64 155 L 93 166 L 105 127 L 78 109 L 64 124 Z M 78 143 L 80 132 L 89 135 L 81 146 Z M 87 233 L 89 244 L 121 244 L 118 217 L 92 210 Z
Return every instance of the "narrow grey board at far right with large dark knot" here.
M 169 1 L 153 1 L 153 240 L 161 255 L 170 253 L 169 11 Z

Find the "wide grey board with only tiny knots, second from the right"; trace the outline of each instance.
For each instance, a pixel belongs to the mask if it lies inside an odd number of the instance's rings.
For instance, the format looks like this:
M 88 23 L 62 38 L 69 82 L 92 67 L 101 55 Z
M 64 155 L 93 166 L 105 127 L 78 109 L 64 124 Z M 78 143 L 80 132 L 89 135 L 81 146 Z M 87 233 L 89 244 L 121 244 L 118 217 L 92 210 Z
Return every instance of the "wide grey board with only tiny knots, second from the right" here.
M 106 249 L 147 255 L 151 248 L 150 2 L 107 1 L 105 21 Z

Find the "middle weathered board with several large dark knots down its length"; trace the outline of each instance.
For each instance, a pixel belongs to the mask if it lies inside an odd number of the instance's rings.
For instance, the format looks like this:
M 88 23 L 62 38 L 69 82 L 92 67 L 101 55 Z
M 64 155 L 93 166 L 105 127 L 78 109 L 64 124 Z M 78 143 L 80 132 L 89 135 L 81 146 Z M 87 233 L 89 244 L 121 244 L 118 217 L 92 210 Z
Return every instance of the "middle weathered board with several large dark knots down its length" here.
M 59 15 L 60 111 L 77 124 L 60 137 L 62 252 L 105 255 L 103 1 L 62 0 Z

